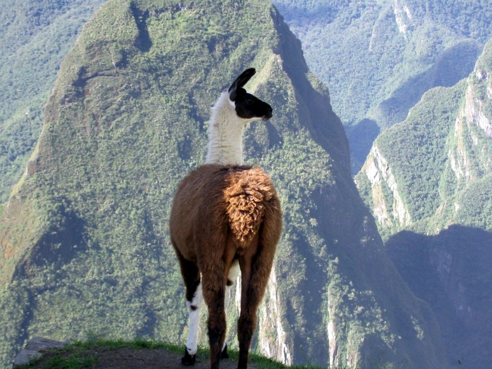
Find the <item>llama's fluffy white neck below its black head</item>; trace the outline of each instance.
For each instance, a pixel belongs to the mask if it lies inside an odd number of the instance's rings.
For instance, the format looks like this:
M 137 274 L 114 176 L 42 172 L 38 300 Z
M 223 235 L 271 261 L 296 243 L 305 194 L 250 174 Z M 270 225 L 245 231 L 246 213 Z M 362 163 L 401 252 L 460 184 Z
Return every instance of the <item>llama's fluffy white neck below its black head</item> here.
M 212 108 L 206 162 L 209 164 L 243 164 L 243 130 L 245 120 L 236 115 L 234 103 L 224 91 Z

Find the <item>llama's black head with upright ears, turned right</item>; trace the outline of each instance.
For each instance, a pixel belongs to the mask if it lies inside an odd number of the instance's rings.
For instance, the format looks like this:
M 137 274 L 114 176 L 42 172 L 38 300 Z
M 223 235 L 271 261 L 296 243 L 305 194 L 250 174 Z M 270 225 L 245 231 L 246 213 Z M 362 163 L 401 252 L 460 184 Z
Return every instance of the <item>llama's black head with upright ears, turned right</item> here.
M 247 121 L 253 121 L 258 118 L 262 121 L 268 121 L 272 118 L 272 107 L 243 88 L 255 73 L 256 70 L 254 68 L 246 69 L 241 73 L 229 87 L 229 99 L 234 105 L 238 117 Z

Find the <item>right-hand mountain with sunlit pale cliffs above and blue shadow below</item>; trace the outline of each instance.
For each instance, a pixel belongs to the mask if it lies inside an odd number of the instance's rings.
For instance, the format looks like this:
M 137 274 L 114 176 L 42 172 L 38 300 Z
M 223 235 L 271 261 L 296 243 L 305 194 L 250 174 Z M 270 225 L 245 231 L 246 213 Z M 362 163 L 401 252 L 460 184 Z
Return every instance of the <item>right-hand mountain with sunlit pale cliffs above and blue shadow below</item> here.
M 468 78 L 381 133 L 357 176 L 392 260 L 438 317 L 449 362 L 473 368 L 492 361 L 491 75 L 489 41 Z

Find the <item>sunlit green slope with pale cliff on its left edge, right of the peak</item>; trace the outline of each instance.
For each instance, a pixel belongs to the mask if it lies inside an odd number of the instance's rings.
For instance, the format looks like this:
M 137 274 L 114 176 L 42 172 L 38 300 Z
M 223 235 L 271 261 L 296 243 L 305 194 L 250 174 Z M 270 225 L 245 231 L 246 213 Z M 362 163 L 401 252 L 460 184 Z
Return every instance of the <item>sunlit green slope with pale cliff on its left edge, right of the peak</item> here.
M 370 199 L 382 235 L 429 218 L 441 205 L 447 142 L 464 89 L 464 81 L 432 89 L 404 122 L 375 140 L 356 180 L 362 196 Z

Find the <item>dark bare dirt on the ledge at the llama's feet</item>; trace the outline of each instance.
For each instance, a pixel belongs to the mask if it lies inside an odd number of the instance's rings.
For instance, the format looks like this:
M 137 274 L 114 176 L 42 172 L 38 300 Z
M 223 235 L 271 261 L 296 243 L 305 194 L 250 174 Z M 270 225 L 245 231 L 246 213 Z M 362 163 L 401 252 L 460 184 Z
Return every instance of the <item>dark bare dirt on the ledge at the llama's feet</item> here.
M 48 353 L 47 360 L 51 356 Z M 185 367 L 181 364 L 183 355 L 168 352 L 165 349 L 104 349 L 97 348 L 92 352 L 92 356 L 98 358 L 97 363 L 91 369 L 209 369 L 208 357 L 196 358 L 193 366 Z M 44 361 L 42 360 L 42 361 Z M 45 368 L 36 365 L 34 368 Z M 220 361 L 220 369 L 236 369 L 237 363 L 234 360 L 224 359 Z M 256 369 L 249 366 L 250 369 Z

